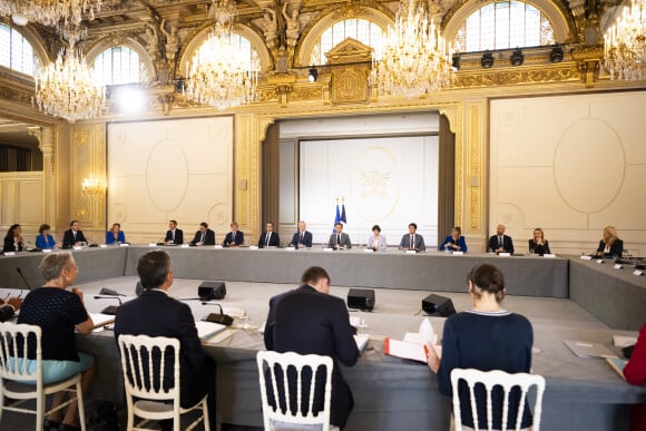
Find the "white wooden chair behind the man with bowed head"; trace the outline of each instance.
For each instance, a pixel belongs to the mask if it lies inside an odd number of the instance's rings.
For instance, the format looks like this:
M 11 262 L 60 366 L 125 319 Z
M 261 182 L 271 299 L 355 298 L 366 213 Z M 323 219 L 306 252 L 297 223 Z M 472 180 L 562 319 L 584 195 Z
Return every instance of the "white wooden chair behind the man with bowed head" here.
M 263 402 L 263 420 L 265 431 L 270 430 L 339 430 L 336 427 L 330 427 L 330 400 L 332 394 L 332 369 L 334 362 L 330 356 L 317 354 L 301 355 L 294 352 L 258 352 L 256 355 L 258 364 L 258 376 L 261 383 L 261 398 Z M 323 410 L 314 412 L 314 394 L 316 392 L 316 374 L 320 368 L 325 373 L 325 388 L 323 389 Z M 287 379 L 287 370 L 294 369 L 296 376 L 296 404 L 292 405 L 290 400 L 291 388 Z M 307 403 L 303 412 L 303 375 L 306 373 L 310 379 Z M 270 403 L 267 398 L 266 378 L 271 376 L 272 394 L 274 404 Z M 278 388 L 281 391 L 278 391 Z M 282 409 L 280 395 L 284 393 L 285 410 Z

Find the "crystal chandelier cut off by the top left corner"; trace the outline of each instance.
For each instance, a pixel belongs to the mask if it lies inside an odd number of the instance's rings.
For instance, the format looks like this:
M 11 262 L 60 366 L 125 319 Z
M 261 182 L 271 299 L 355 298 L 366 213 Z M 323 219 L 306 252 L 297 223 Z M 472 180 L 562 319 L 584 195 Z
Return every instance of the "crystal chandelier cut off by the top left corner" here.
M 95 18 L 95 10 L 100 10 L 102 0 L 0 0 L 0 16 L 11 17 L 17 26 L 39 22 L 56 27 L 62 21 L 66 25 L 79 25 L 82 14 Z

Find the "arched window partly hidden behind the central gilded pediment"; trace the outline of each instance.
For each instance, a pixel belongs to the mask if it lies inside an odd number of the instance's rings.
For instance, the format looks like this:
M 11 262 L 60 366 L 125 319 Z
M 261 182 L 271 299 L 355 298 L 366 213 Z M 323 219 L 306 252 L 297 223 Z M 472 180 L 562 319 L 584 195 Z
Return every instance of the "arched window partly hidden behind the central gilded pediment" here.
M 314 43 L 310 65 L 325 65 L 325 52 L 348 38 L 359 40 L 369 47 L 378 47 L 383 39 L 383 29 L 365 19 L 346 19 L 339 21 L 321 33 L 321 38 Z

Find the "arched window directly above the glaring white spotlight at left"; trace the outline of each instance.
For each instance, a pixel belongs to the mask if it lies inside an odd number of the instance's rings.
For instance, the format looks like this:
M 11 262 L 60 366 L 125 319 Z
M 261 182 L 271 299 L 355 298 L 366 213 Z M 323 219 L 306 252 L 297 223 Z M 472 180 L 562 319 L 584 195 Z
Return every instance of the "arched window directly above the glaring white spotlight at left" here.
M 128 47 L 111 47 L 95 59 L 95 81 L 110 86 L 147 80 L 145 66 L 137 51 Z

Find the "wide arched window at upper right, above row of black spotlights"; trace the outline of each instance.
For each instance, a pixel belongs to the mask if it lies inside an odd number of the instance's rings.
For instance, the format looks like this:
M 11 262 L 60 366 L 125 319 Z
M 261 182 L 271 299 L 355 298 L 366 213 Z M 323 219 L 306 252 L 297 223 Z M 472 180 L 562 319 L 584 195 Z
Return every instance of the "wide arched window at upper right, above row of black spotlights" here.
M 496 1 L 471 13 L 456 33 L 458 52 L 554 45 L 551 22 L 522 1 Z

